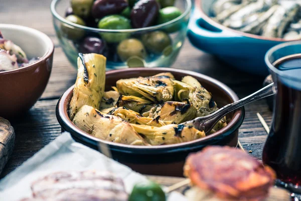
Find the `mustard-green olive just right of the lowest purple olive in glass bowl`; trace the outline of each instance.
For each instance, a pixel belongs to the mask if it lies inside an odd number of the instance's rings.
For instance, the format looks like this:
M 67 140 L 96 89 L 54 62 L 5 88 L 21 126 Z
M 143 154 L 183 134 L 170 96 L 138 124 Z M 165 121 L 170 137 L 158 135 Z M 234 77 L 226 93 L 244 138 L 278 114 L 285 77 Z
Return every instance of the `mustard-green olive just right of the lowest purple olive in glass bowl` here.
M 146 57 L 146 51 L 143 44 L 134 38 L 125 39 L 119 43 L 117 54 L 122 61 L 126 61 L 129 57 L 137 56 L 142 59 Z

